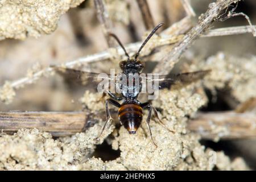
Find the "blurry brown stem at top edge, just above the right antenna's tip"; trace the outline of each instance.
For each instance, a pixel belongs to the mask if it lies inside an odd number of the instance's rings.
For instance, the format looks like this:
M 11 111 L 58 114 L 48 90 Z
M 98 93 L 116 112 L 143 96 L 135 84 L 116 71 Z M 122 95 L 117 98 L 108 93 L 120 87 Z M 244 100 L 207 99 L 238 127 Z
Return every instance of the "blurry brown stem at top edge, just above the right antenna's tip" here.
M 150 13 L 147 0 L 137 0 L 139 9 L 141 10 L 144 25 L 147 30 L 152 30 L 155 27 L 154 20 Z

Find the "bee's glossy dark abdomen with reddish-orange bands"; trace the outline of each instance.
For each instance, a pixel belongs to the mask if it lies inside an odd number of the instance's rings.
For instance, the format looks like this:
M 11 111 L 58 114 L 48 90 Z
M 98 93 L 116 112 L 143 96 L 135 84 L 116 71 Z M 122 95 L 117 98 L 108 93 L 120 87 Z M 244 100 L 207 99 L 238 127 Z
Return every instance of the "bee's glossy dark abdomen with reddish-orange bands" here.
M 137 104 L 123 104 L 118 109 L 119 121 L 130 134 L 135 134 L 142 122 L 142 107 Z

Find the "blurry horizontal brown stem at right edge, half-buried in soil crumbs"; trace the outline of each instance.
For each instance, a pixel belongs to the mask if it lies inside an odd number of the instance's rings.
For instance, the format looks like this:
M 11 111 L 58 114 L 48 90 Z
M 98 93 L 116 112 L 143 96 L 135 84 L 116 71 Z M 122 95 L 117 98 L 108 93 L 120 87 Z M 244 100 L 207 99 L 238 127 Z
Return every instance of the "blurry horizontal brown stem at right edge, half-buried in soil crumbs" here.
M 188 129 L 204 139 L 256 138 L 256 114 L 234 111 L 198 113 Z

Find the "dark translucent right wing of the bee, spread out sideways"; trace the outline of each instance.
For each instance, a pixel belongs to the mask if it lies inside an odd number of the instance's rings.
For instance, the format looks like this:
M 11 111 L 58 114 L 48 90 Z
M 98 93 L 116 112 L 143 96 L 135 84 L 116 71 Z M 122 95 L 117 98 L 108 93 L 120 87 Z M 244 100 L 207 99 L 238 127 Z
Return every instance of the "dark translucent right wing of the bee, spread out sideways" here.
M 158 81 L 159 89 L 170 88 L 172 85 L 175 85 L 175 88 L 180 88 L 182 86 L 191 84 L 191 82 L 195 82 L 204 78 L 210 70 L 205 71 L 196 71 L 196 72 L 187 72 L 187 73 L 178 73 L 178 74 L 169 74 L 169 75 L 159 75 L 159 76 L 146 76 L 142 77 L 142 81 L 148 82 L 156 82 Z M 152 83 L 151 83 L 152 84 Z

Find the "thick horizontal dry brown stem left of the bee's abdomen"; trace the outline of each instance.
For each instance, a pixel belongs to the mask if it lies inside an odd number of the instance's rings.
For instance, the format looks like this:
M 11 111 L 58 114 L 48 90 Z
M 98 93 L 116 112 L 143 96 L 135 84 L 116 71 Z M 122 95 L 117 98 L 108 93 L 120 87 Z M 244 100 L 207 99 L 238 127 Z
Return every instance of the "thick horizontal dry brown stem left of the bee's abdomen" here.
M 47 131 L 53 137 L 82 132 L 88 120 L 82 112 L 1 112 L 0 131 L 12 134 L 22 128 Z

